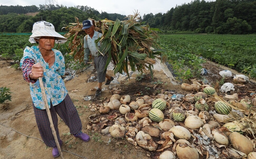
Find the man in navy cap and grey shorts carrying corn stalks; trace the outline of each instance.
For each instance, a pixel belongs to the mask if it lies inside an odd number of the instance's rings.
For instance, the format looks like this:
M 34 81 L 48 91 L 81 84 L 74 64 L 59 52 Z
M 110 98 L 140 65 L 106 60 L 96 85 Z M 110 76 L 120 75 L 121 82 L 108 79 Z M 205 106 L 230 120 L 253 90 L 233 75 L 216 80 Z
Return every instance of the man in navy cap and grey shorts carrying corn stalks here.
M 85 31 L 87 34 L 84 36 L 84 63 L 87 64 L 89 61 L 89 54 L 91 52 L 92 56 L 94 57 L 94 65 L 97 71 L 97 78 L 98 78 L 98 88 L 96 89 L 95 96 L 101 95 L 101 86 L 102 82 L 105 82 L 107 78 L 106 85 L 110 84 L 111 81 L 114 80 L 114 77 L 109 76 L 106 74 L 107 69 L 105 69 L 108 56 L 107 54 L 103 53 L 103 55 L 98 52 L 97 48 L 100 48 L 100 43 L 94 43 L 99 37 L 102 36 L 101 33 L 94 30 L 94 25 L 92 24 L 92 20 L 84 20 L 83 21 L 83 28 L 82 30 Z

